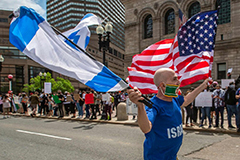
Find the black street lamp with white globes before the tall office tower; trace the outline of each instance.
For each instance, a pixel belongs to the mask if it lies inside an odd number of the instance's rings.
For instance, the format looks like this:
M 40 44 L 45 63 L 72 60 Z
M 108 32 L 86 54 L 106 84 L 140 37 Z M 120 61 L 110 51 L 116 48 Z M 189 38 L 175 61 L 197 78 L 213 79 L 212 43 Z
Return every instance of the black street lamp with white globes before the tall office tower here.
M 105 52 L 109 50 L 109 43 L 110 43 L 110 34 L 112 33 L 113 26 L 111 25 L 110 22 L 107 22 L 105 25 L 105 32 L 104 34 L 104 28 L 102 25 L 99 25 L 96 28 L 96 32 L 98 34 L 98 44 L 99 44 L 99 51 L 103 48 L 103 64 L 106 65 L 105 63 Z

